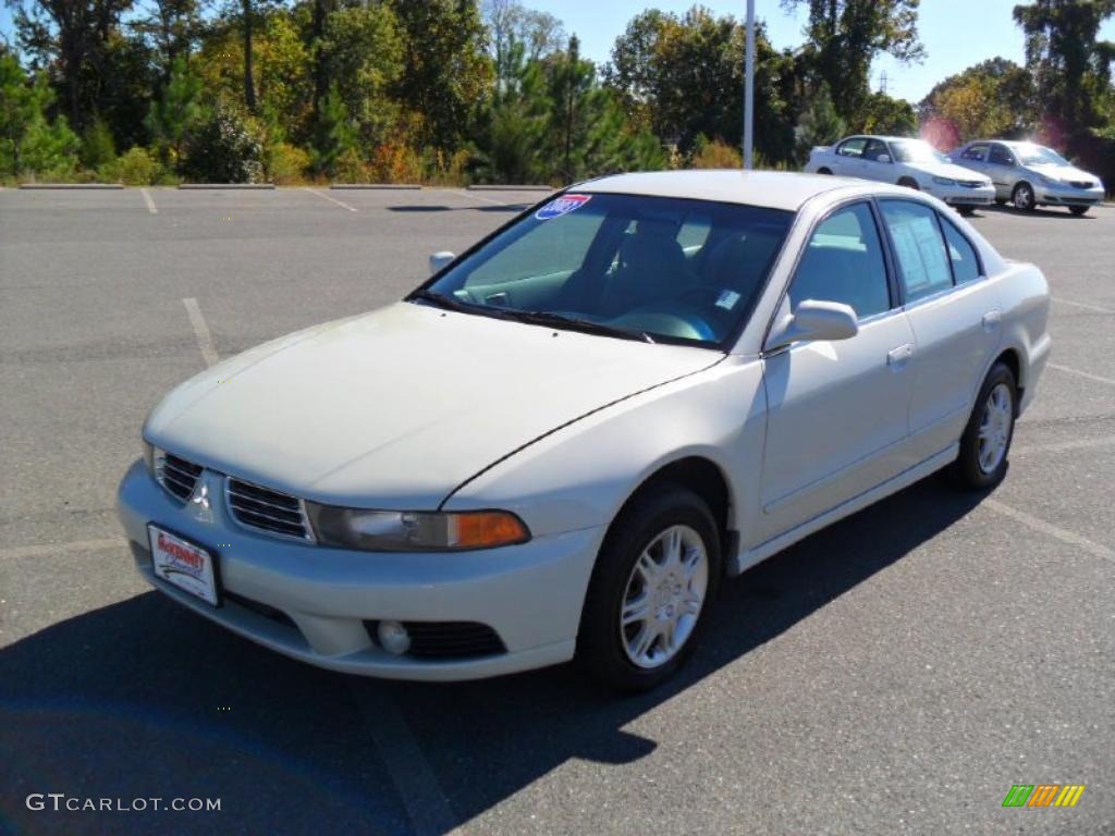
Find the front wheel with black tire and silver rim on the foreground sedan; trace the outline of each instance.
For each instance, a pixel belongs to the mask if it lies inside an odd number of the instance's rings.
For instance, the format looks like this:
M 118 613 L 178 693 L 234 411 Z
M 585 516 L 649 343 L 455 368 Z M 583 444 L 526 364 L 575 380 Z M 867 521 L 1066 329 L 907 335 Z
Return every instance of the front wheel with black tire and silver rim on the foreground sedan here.
M 694 492 L 646 489 L 604 537 L 581 614 L 578 660 L 619 691 L 646 691 L 685 663 L 721 575 L 716 522 Z

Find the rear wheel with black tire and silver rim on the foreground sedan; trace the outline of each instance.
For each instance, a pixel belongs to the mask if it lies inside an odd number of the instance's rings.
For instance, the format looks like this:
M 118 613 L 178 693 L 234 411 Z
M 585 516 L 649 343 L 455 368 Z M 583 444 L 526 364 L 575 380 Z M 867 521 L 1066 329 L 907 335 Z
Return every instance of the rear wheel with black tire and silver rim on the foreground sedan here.
M 1018 382 L 1004 363 L 991 367 L 976 398 L 953 475 L 963 487 L 995 487 L 1007 475 L 1007 458 L 1018 415 Z

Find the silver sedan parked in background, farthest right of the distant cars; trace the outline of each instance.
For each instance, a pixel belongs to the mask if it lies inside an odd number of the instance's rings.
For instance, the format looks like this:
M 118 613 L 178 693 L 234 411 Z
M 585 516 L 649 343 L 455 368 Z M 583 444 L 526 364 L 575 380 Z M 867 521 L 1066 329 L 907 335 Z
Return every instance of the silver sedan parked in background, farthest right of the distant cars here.
M 1044 145 L 978 139 L 953 150 L 950 159 L 990 177 L 996 203 L 1009 201 L 1016 208 L 1067 206 L 1074 215 L 1083 215 L 1104 200 L 1104 185 L 1096 175 Z

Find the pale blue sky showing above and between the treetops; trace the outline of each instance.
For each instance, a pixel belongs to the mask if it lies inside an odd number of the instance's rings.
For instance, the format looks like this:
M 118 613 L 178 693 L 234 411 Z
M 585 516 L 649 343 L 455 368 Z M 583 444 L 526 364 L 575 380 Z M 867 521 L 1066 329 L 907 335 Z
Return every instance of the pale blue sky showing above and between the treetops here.
M 1022 33 L 1010 16 L 1018 0 L 922 0 L 919 30 L 927 57 L 921 64 L 900 65 L 890 57 L 875 61 L 872 86 L 886 74 L 892 96 L 919 101 L 934 84 L 985 58 L 1002 56 L 1022 62 Z M 565 23 L 569 32 L 581 39 L 586 58 L 603 64 L 610 57 L 615 37 L 628 20 L 647 8 L 683 13 L 691 0 L 626 2 L 624 0 L 524 0 L 535 9 L 549 11 Z M 746 0 L 706 0 L 704 6 L 718 14 L 743 18 Z M 778 0 L 756 0 L 756 16 L 766 20 L 775 46 L 796 47 L 803 40 L 804 10 L 787 14 Z M 0 0 L 0 32 L 11 37 L 11 11 Z M 1101 37 L 1115 40 L 1115 20 L 1108 20 Z

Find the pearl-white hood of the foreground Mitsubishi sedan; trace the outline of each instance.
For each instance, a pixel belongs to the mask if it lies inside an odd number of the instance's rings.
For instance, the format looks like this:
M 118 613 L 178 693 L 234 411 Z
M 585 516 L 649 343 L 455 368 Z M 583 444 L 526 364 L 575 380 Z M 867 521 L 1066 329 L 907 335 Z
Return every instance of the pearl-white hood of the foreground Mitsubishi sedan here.
M 214 366 L 144 437 L 308 499 L 420 511 L 540 436 L 723 358 L 399 302 Z

